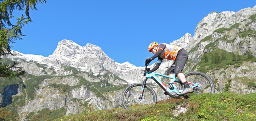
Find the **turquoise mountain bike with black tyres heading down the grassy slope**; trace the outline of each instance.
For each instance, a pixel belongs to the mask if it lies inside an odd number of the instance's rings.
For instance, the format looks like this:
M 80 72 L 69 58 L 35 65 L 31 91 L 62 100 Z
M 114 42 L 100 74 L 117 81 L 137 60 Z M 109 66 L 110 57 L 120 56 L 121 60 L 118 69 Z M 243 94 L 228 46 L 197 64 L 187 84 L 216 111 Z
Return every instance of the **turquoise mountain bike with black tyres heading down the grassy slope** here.
M 147 68 L 147 64 L 145 64 L 145 69 L 142 71 L 144 71 L 143 75 L 145 76 L 142 83 L 131 84 L 123 92 L 122 104 L 127 110 L 130 110 L 136 104 L 156 104 L 157 97 L 154 89 L 149 85 L 146 85 L 148 79 L 153 79 L 165 91 L 165 94 L 171 98 L 181 98 L 181 96 L 183 96 L 187 99 L 189 96 L 195 96 L 200 93 L 215 92 L 213 81 L 208 75 L 202 72 L 193 71 L 185 74 L 187 83 L 194 89 L 194 92 L 181 95 L 180 93 L 183 91 L 184 86 L 182 85 L 181 80 L 176 79 L 175 74 L 173 74 L 173 77 L 170 77 L 160 73 L 151 73 L 149 72 L 150 68 Z M 172 81 L 169 82 L 169 87 L 158 79 L 157 76 L 172 79 Z

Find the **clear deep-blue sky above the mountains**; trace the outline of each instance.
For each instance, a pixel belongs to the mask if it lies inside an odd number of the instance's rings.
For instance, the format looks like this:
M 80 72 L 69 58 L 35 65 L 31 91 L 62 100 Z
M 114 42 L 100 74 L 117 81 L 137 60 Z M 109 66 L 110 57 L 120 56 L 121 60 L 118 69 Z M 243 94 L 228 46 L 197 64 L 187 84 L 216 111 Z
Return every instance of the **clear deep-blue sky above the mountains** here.
M 255 5 L 256 0 L 49 0 L 30 11 L 33 22 L 11 49 L 47 57 L 68 39 L 99 46 L 117 63 L 144 66 L 144 59 L 153 56 L 147 49 L 151 42 L 169 44 L 187 32 L 193 36 L 209 13 Z

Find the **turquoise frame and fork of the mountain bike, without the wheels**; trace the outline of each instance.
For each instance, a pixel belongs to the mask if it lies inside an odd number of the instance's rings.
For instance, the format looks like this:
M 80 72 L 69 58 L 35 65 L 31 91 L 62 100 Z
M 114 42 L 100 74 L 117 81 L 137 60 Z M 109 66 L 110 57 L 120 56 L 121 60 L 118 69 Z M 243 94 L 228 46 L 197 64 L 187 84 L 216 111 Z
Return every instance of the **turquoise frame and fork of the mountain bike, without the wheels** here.
M 172 81 L 170 82 L 170 84 L 172 85 L 173 89 L 169 89 L 167 88 L 167 86 L 160 80 L 158 79 L 157 75 L 159 76 L 162 76 L 162 77 L 167 77 L 169 79 L 172 79 Z M 146 86 L 146 81 L 148 80 L 148 78 L 150 79 L 153 79 L 165 92 L 168 93 L 169 96 L 171 96 L 172 98 L 180 98 L 180 96 L 177 96 L 177 94 L 179 94 L 180 92 L 182 92 L 183 90 L 177 90 L 177 87 L 175 85 L 175 82 L 181 82 L 181 80 L 179 79 L 176 79 L 176 76 L 175 74 L 173 74 L 173 77 L 170 77 L 168 75 L 163 75 L 163 74 L 160 74 L 160 73 L 151 73 L 151 72 L 146 72 L 146 76 L 145 76 L 145 79 L 143 81 L 143 87 L 142 87 L 142 91 L 141 91 L 141 96 L 140 96 L 140 99 L 142 98 L 143 96 L 143 92 L 144 92 L 144 88 Z M 192 84 L 193 86 L 190 86 L 192 88 L 195 88 L 198 86 L 197 83 L 191 83 L 191 82 L 187 82 L 188 84 Z M 171 92 L 175 92 L 174 95 L 170 94 Z

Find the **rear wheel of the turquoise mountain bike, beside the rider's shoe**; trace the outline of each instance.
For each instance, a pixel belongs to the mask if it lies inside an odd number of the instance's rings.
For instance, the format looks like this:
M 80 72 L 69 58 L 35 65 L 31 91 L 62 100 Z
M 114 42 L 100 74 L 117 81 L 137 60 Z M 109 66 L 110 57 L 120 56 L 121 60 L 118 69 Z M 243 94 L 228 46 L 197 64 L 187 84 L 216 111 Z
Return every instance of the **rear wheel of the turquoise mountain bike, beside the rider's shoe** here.
M 195 88 L 195 91 L 193 93 L 187 94 L 188 96 L 194 96 L 200 93 L 215 92 L 214 83 L 208 75 L 202 72 L 193 71 L 193 72 L 186 73 L 185 77 L 187 82 L 197 82 L 199 84 L 199 86 L 196 87 L 197 89 Z M 181 86 L 181 85 L 182 83 L 176 84 L 177 88 L 180 88 L 181 90 L 183 90 L 184 86 L 183 85 Z M 189 85 L 192 86 L 192 84 L 189 84 Z

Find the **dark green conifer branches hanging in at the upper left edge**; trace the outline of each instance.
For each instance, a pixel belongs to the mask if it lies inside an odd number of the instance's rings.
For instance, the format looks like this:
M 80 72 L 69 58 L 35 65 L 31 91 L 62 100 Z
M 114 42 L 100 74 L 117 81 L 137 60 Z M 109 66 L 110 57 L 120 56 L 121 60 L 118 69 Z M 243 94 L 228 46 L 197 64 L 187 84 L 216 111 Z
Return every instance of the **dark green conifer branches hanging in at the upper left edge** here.
M 13 55 L 11 45 L 15 40 L 22 40 L 22 29 L 25 24 L 32 22 L 29 16 L 29 10 L 37 10 L 36 4 L 46 3 L 46 0 L 1 0 L 0 2 L 0 57 Z M 25 11 L 25 15 L 16 18 L 16 24 L 11 23 L 13 11 Z M 0 77 L 13 78 L 26 73 L 22 67 L 17 66 L 17 62 L 3 63 L 0 58 Z

